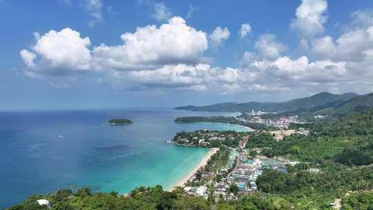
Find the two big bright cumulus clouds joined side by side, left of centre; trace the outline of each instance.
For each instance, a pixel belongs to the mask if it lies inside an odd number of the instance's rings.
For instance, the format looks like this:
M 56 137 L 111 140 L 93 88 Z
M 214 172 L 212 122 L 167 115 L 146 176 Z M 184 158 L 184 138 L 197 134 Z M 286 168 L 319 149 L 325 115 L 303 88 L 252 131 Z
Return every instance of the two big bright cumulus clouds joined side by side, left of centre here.
M 206 33 L 181 17 L 169 23 L 137 28 L 121 35 L 123 44 L 101 44 L 90 50 L 90 39 L 65 28 L 39 36 L 30 50 L 20 55 L 28 70 L 46 75 L 66 75 L 82 70 L 142 70 L 166 64 L 198 64 L 208 48 Z

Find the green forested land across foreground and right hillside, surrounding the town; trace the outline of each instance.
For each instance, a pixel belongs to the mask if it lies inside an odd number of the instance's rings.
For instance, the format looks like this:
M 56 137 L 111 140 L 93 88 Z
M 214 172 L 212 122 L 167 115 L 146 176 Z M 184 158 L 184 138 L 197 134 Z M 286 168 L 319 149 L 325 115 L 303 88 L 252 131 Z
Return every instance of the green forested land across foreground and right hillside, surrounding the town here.
M 90 189 L 82 188 L 75 192 L 61 189 L 48 195 L 32 195 L 9 209 L 46 209 L 46 206 L 37 204 L 38 199 L 50 201 L 52 209 L 57 210 L 333 209 L 332 204 L 336 203 L 341 204 L 341 209 L 373 209 L 373 109 L 354 113 L 342 120 L 310 124 L 307 129 L 309 135 L 293 134 L 281 141 L 276 141 L 269 133 L 260 132 L 227 131 L 218 133 L 216 137 L 202 131 L 178 133 L 175 140 L 199 141 L 201 135 L 211 136 L 215 143 L 210 143 L 220 146 L 222 151 L 226 146 L 238 148 L 238 141 L 245 136 L 248 141 L 244 150 L 250 155 L 258 153 L 299 162 L 294 166 L 287 165 L 286 173 L 274 169 L 263 171 L 256 180 L 258 190 L 253 193 L 240 194 L 232 185 L 228 191 L 234 193 L 233 199 L 218 199 L 213 194 L 216 190 L 213 186 L 210 186 L 211 193 L 206 199 L 189 195 L 180 187 L 172 192 L 164 191 L 161 186 L 139 187 L 129 195 L 91 193 Z M 216 156 L 218 160 L 219 157 Z M 226 155 L 222 154 L 222 157 Z M 214 164 L 210 163 L 211 166 Z M 213 178 L 219 179 L 219 176 Z

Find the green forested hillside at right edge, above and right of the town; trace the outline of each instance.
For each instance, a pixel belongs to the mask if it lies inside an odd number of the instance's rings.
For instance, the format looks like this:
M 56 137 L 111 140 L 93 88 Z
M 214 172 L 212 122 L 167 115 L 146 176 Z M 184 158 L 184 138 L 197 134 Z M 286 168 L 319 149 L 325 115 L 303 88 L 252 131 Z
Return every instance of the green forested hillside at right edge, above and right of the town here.
M 310 135 L 291 135 L 282 141 L 268 134 L 254 135 L 247 149 L 266 148 L 269 156 L 287 156 L 294 160 L 321 163 L 325 160 L 346 165 L 373 163 L 373 109 L 354 113 L 342 120 L 314 124 Z

